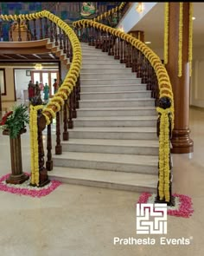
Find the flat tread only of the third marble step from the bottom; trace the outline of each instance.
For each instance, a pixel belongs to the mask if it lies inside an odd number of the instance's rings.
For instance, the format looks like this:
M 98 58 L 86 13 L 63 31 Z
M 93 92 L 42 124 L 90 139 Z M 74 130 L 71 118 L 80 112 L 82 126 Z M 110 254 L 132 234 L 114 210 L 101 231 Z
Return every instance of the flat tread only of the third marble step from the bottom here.
M 158 148 L 159 142 L 156 140 L 110 140 L 110 139 L 69 139 L 61 141 L 61 144 L 84 144 L 103 146 L 126 146 L 126 147 L 150 147 Z

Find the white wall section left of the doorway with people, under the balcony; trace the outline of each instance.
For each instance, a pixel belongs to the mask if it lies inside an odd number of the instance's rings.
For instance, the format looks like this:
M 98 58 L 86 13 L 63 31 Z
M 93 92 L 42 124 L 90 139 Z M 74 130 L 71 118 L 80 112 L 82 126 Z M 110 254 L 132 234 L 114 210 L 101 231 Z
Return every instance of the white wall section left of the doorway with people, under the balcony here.
M 26 75 L 26 69 L 15 70 L 16 99 L 23 100 L 23 89 L 28 89 L 31 76 Z

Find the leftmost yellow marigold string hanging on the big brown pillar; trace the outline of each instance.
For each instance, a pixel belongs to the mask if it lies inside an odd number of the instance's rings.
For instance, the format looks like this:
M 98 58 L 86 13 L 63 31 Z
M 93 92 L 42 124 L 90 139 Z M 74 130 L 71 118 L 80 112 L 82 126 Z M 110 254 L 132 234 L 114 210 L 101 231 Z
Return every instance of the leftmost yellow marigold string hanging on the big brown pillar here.
M 163 62 L 168 63 L 169 50 L 169 3 L 165 3 L 164 9 L 164 44 L 163 44 Z

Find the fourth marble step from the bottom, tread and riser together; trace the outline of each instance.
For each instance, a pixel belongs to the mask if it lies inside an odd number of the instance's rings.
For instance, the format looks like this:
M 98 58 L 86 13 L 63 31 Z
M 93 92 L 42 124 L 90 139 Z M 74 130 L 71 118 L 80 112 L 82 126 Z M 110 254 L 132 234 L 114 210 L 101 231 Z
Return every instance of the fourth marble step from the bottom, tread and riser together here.
M 156 140 L 156 127 L 75 127 L 70 139 Z

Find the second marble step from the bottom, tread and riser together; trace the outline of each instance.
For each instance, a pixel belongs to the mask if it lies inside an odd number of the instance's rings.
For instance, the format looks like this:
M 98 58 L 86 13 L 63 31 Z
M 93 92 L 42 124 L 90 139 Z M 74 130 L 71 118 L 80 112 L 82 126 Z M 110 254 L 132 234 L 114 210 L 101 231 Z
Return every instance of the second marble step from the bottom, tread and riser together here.
M 105 171 L 157 174 L 158 157 L 136 154 L 63 152 L 53 155 L 54 167 L 76 167 Z

